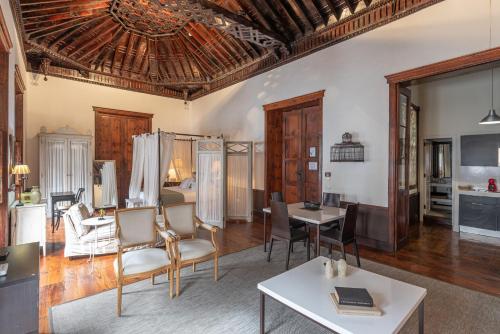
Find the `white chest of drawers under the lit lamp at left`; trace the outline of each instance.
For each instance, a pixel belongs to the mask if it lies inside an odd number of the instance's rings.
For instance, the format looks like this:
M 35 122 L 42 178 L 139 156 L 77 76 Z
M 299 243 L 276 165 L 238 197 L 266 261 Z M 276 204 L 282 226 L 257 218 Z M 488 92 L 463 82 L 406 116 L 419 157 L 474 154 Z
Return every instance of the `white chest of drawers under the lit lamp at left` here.
M 11 211 L 12 245 L 39 242 L 46 254 L 46 204 L 25 204 L 15 206 Z

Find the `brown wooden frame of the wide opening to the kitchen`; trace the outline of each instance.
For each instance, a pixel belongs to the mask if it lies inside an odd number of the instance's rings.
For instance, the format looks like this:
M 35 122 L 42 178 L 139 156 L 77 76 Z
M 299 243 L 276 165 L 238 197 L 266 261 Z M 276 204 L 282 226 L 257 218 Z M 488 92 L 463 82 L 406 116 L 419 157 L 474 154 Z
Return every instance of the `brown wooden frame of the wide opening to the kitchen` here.
M 440 61 L 430 65 L 387 75 L 389 84 L 389 178 L 388 178 L 388 215 L 390 243 L 393 250 L 397 250 L 396 220 L 398 194 L 398 96 L 400 87 L 409 85 L 414 80 L 424 79 L 435 75 L 448 74 L 455 71 L 471 69 L 500 60 L 500 47 L 488 49 L 465 56 Z

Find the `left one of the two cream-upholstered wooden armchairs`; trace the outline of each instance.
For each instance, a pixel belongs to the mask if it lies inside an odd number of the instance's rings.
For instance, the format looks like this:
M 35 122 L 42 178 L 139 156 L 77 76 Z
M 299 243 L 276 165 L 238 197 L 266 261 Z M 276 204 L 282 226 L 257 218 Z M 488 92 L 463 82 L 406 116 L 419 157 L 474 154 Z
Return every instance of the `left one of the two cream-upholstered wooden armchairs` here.
M 168 272 L 170 298 L 173 297 L 174 261 L 171 257 L 175 238 L 156 225 L 156 208 L 143 207 L 115 211 L 117 257 L 113 263 L 118 292 L 117 313 L 121 316 L 122 287 L 138 279 Z M 165 249 L 154 248 L 157 234 L 165 238 Z

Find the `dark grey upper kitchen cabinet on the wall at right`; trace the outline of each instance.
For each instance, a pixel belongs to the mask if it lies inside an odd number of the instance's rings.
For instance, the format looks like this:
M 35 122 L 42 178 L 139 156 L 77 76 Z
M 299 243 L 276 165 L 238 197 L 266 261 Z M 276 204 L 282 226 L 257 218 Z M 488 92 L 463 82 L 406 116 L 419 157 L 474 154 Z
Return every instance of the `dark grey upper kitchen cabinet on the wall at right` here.
M 460 137 L 461 166 L 498 167 L 500 134 Z

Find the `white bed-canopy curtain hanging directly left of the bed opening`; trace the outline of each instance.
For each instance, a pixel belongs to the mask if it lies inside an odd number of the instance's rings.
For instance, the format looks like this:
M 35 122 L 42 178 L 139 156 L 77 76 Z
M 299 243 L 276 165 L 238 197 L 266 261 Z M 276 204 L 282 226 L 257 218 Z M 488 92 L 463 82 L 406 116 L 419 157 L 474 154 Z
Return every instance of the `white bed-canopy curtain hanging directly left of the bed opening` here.
M 175 135 L 162 132 L 160 139 L 160 183 L 163 184 L 172 161 Z M 158 204 L 160 186 L 158 183 L 158 133 L 144 135 L 144 140 L 144 203 L 154 206 Z

